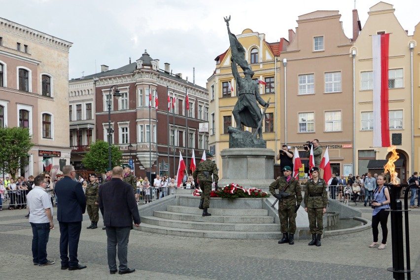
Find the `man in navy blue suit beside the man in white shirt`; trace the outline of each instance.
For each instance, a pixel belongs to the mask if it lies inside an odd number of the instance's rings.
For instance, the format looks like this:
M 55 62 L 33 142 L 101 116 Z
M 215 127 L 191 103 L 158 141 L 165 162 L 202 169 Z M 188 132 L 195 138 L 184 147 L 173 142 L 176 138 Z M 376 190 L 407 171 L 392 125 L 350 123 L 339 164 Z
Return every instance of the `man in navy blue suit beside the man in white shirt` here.
M 82 229 L 83 213 L 86 210 L 86 196 L 82 185 L 74 181 L 74 167 L 66 165 L 63 168 L 64 178 L 57 181 L 57 220 L 60 225 L 60 257 L 61 269 L 77 270 L 86 268 L 77 260 L 80 231 Z

